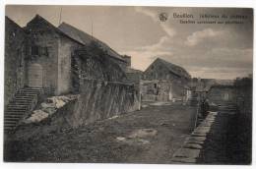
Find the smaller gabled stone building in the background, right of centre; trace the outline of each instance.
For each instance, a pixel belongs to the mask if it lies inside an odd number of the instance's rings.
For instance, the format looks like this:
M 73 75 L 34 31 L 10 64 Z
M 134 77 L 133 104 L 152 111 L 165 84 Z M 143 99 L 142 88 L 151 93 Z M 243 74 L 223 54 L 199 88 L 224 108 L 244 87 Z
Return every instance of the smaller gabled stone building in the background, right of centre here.
M 186 70 L 158 58 L 143 74 L 142 100 L 188 101 L 190 80 Z

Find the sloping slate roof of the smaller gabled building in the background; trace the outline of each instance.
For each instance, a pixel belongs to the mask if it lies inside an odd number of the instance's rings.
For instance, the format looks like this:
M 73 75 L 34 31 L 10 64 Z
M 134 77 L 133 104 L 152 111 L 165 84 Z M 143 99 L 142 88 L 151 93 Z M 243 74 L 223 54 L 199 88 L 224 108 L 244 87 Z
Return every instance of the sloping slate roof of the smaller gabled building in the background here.
M 163 59 L 158 58 L 155 62 L 160 62 L 162 65 L 164 65 L 170 72 L 180 76 L 180 77 L 185 77 L 187 79 L 190 79 L 191 76 L 189 73 L 182 67 L 174 65 L 172 63 L 169 63 Z M 154 63 L 153 63 L 154 64 Z

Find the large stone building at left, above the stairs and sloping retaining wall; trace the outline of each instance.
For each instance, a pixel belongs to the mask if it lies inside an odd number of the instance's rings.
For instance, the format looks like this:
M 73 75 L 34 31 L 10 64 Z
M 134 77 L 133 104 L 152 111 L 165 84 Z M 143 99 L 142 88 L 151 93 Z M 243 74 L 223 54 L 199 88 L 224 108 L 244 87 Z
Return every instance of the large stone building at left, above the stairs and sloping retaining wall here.
M 77 28 L 73 28 L 71 31 L 68 28 L 73 27 L 62 24 L 56 28 L 38 15 L 25 28 L 20 28 L 6 17 L 5 93 L 7 100 L 24 86 L 43 88 L 45 92 L 53 95 L 75 90 L 74 87 L 76 86 L 73 84 L 76 83 L 73 82 L 75 79 L 72 77 L 72 73 L 74 67 L 82 67 L 83 64 L 74 65 L 73 61 L 81 58 L 81 55 L 88 55 L 90 52 L 91 55 L 94 55 L 92 52 L 96 51 L 91 50 L 93 46 L 91 43 L 95 43 L 95 50 L 101 53 L 97 52 L 97 56 L 91 56 L 86 61 L 79 60 L 79 63 L 84 63 L 84 68 L 86 68 L 85 64 L 91 64 L 91 67 L 94 67 L 92 69 L 96 73 L 91 74 L 91 77 L 88 78 L 100 79 L 100 76 L 107 77 L 106 74 L 108 74 L 108 79 L 103 80 L 117 82 L 126 80 L 125 69 L 130 66 L 129 56 L 117 54 L 95 37 L 92 40 L 92 37 L 86 32 Z M 17 50 L 13 50 L 14 48 Z M 85 53 L 85 51 L 88 52 Z M 104 55 L 102 56 L 103 62 L 96 61 L 100 54 Z M 108 64 L 105 65 L 108 67 L 103 67 L 102 63 L 107 61 Z M 112 67 L 110 68 L 109 65 Z M 15 69 L 17 71 L 13 71 Z M 81 70 L 83 69 L 80 68 L 79 74 L 84 73 L 84 78 L 85 75 L 90 74 L 85 73 L 89 70 Z M 112 78 L 109 78 L 110 76 Z M 80 75 L 80 77 L 82 76 Z

